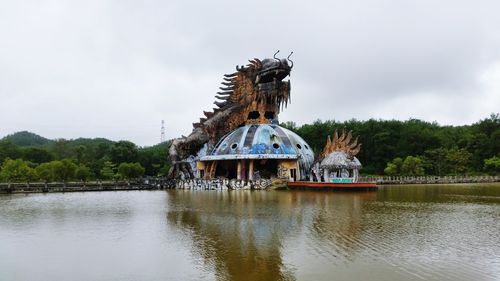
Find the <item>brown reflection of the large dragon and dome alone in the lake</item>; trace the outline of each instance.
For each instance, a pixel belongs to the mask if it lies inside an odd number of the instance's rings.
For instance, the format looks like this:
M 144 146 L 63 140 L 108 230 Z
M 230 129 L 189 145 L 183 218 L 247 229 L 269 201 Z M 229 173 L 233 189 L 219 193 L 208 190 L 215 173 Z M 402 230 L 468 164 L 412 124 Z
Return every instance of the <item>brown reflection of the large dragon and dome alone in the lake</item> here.
M 194 251 L 223 280 L 294 280 L 281 256 L 284 234 L 300 217 L 270 192 L 169 193 L 169 224 L 192 237 Z

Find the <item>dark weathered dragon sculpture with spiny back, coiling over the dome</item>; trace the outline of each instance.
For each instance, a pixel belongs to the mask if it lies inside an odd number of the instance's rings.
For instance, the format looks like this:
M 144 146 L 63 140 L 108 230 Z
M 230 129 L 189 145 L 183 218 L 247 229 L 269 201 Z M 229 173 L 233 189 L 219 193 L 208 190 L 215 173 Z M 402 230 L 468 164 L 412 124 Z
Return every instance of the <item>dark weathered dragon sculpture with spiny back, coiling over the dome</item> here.
M 290 102 L 290 81 L 283 81 L 293 68 L 290 55 L 249 60 L 246 66 L 236 66 L 236 72 L 224 75 L 222 87 L 217 92 L 212 111 L 204 111 L 205 117 L 193 123 L 189 136 L 173 140 L 169 148 L 172 168 L 170 178 L 194 178 L 192 169 L 195 155 L 211 148 L 226 134 L 245 124 L 265 124 L 277 119 L 283 107 Z

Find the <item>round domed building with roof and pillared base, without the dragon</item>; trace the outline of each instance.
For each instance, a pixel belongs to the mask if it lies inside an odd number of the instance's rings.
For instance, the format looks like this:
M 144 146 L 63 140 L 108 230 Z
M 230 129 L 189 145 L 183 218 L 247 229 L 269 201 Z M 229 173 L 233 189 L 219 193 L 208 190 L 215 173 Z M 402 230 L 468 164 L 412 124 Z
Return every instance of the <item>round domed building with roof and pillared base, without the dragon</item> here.
M 306 179 L 314 153 L 294 132 L 275 124 L 242 126 L 223 137 L 198 162 L 204 178 Z

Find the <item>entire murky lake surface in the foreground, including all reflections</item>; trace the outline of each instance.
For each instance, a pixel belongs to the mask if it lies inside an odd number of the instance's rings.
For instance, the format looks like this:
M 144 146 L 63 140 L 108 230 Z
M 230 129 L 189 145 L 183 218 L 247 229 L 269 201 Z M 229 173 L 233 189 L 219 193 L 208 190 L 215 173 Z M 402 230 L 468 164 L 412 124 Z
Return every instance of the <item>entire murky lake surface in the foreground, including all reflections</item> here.
M 0 195 L 0 280 L 500 280 L 500 184 Z

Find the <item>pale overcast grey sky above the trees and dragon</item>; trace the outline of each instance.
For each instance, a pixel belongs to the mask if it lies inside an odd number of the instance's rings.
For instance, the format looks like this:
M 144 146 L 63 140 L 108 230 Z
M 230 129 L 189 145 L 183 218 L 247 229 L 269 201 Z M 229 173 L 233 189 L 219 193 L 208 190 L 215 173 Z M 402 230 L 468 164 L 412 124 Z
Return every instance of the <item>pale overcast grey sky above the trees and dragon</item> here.
M 0 0 L 0 138 L 188 135 L 224 73 L 294 52 L 280 121 L 500 112 L 500 1 Z

